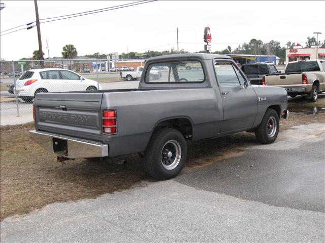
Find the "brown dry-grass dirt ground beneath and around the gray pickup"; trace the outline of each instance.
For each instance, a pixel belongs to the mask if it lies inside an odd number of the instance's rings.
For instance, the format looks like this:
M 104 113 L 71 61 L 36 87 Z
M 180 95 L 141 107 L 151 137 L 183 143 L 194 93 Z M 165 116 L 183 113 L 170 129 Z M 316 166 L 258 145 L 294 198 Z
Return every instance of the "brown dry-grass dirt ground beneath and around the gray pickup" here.
M 325 122 L 325 114 L 290 113 L 281 119 L 280 131 L 295 125 Z M 1 127 L 1 220 L 40 209 L 56 201 L 95 198 L 104 193 L 146 186 L 152 180 L 137 154 L 125 165 L 101 160 L 76 159 L 66 164 L 29 139 L 31 123 Z M 258 144 L 253 133 L 238 133 L 188 144 L 185 172 L 238 156 L 248 145 Z

